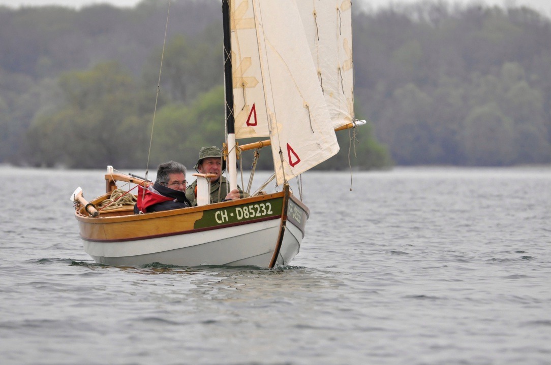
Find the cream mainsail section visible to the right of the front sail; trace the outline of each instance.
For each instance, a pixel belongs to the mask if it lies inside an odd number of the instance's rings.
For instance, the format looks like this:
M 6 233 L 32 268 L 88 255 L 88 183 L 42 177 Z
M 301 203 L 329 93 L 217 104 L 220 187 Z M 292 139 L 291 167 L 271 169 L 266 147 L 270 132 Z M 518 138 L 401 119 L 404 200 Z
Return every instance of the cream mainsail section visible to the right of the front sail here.
M 354 118 L 352 1 L 296 1 L 333 127 Z

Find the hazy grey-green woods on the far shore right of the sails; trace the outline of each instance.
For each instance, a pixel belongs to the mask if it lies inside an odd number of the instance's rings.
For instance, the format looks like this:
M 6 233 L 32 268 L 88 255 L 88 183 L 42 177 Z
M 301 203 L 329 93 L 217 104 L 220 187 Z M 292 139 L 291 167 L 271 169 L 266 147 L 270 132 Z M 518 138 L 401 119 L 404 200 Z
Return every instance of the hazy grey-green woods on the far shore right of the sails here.
M 354 27 L 356 97 L 397 164 L 551 162 L 549 19 L 440 2 Z

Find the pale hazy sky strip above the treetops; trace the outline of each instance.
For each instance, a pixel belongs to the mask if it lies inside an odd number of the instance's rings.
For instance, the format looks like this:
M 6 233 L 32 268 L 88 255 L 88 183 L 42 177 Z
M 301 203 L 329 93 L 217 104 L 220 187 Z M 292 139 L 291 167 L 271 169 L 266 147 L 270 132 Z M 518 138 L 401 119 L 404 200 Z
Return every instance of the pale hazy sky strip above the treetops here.
M 21 5 L 25 6 L 41 6 L 41 5 L 63 5 L 69 7 L 82 7 L 84 5 L 98 4 L 98 3 L 110 3 L 115 6 L 134 6 L 140 0 L 0 0 L 0 5 L 6 5 L 9 7 L 17 8 Z M 161 0 L 159 0 L 161 1 Z M 420 0 L 354 0 L 357 3 L 371 4 L 373 7 L 379 7 L 381 5 L 387 5 L 390 3 L 412 3 Z M 535 10 L 551 17 L 551 0 L 447 0 L 454 3 L 484 3 L 484 4 L 499 4 L 507 5 L 514 4 L 517 6 L 526 5 Z

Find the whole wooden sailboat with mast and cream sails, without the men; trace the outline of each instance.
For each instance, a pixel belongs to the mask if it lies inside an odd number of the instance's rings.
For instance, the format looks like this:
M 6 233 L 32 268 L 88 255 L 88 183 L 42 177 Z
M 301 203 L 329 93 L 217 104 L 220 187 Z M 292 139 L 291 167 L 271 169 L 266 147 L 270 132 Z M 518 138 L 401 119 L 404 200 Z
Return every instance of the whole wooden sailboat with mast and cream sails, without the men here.
M 108 168 L 104 195 L 88 202 L 79 188 L 71 197 L 84 250 L 98 263 L 289 264 L 310 214 L 289 179 L 337 153 L 335 130 L 362 124 L 353 117 L 350 0 L 223 0 L 222 9 L 230 188 L 236 150 L 269 145 L 283 191 L 134 215 L 132 206 L 98 207 L 120 183 L 148 182 Z M 251 137 L 269 140 L 237 146 Z

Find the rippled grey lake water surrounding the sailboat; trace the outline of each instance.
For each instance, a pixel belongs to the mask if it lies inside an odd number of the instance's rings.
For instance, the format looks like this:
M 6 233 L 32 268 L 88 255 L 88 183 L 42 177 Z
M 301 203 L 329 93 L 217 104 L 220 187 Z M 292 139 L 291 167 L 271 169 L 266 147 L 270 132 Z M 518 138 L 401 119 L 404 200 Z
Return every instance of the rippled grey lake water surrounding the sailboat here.
M 549 167 L 307 173 L 273 270 L 95 265 L 102 175 L 0 167 L 3 365 L 551 364 Z

